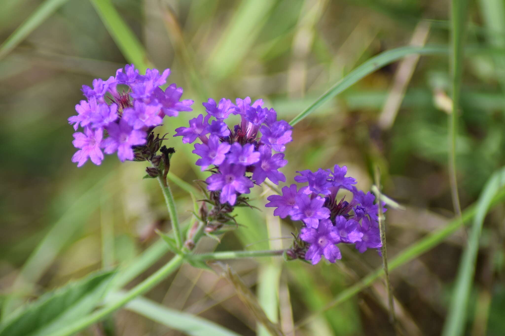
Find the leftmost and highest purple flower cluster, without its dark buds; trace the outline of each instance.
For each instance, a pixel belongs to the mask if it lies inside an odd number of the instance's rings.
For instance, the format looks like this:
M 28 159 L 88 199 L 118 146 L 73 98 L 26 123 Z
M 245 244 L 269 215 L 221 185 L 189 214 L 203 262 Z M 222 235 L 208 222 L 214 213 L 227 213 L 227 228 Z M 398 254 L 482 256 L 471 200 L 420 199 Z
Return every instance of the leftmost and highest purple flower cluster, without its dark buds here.
M 146 144 L 147 133 L 162 123 L 165 116 L 177 116 L 179 111 L 191 111 L 192 100 L 180 101 L 182 88 L 164 85 L 170 69 L 159 73 L 147 69 L 140 75 L 133 64 L 119 69 L 107 81 L 93 80 L 93 88 L 83 85 L 87 100 L 75 106 L 77 115 L 68 118 L 77 130 L 72 144 L 79 150 L 72 162 L 82 166 L 88 158 L 96 165 L 102 163 L 104 154 L 118 153 L 121 161 L 133 160 L 134 148 Z M 124 86 L 122 92 L 118 85 Z M 125 89 L 127 90 L 125 92 Z M 104 135 L 108 135 L 107 138 Z

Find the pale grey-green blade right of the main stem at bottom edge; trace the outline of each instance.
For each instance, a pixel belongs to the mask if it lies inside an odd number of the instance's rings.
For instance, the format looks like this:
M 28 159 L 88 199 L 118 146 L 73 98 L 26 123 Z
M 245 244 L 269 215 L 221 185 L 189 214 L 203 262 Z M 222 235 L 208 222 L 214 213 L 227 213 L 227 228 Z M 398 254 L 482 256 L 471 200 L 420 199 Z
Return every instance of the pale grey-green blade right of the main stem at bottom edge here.
M 111 296 L 116 300 L 124 294 L 114 293 Z M 238 333 L 205 318 L 170 309 L 142 297 L 132 300 L 125 308 L 190 336 L 239 336 Z

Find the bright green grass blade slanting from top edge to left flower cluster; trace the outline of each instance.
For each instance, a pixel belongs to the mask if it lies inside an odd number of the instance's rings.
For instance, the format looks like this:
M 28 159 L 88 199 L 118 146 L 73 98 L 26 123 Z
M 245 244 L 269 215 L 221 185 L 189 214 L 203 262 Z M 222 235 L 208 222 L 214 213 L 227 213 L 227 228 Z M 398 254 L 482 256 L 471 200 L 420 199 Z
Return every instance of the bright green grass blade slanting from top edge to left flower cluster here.
M 102 22 L 126 60 L 135 64 L 135 66 L 140 69 L 140 72 L 145 72 L 145 69 L 152 68 L 153 66 L 147 59 L 147 53 L 144 47 L 116 11 L 112 2 L 110 0 L 89 1 L 95 8 L 100 19 L 102 19 Z

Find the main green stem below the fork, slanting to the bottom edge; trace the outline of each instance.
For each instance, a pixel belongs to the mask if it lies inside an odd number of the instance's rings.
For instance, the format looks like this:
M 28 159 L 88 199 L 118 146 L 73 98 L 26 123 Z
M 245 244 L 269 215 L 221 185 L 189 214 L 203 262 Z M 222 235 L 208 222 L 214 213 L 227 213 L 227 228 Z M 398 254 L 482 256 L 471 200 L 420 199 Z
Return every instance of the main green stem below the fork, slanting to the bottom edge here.
M 83 317 L 74 323 L 71 323 L 68 327 L 60 330 L 59 332 L 54 333 L 52 336 L 70 336 L 79 330 L 84 329 L 85 327 L 90 326 L 93 323 L 96 323 L 109 315 L 110 313 L 120 309 L 129 301 L 133 300 L 139 295 L 142 295 L 149 291 L 151 288 L 158 285 L 164 279 L 166 279 L 171 273 L 173 273 L 183 262 L 183 257 L 176 254 L 168 263 L 165 264 L 162 268 L 160 268 L 156 273 L 151 275 L 149 278 L 142 281 L 137 286 L 133 287 L 125 296 L 121 299 L 111 302 L 105 305 L 103 308 L 96 310 L 94 313 Z

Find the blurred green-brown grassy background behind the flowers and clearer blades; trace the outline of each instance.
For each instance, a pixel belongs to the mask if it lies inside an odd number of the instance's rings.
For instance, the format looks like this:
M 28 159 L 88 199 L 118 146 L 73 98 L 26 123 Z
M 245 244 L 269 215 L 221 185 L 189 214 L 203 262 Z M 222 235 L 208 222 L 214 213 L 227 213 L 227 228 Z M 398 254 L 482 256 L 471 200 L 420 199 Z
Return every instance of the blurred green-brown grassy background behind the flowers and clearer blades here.
M 6 40 L 42 3 L 2 0 L 0 40 Z M 170 227 L 156 181 L 141 179 L 142 163 L 120 164 L 108 156 L 102 166 L 88 162 L 78 169 L 70 161 L 75 149 L 67 118 L 83 99 L 81 86 L 113 76 L 128 55 L 118 48 L 90 2 L 52 3 L 61 6 L 0 59 L 3 303 L 13 293 L 31 300 L 103 265 L 125 267 L 155 244 L 154 229 Z M 449 41 L 449 3 L 440 0 L 116 0 L 113 5 L 145 47 L 145 61 L 158 69 L 170 68 L 167 84 L 177 83 L 184 88 L 184 99 L 195 100 L 193 112 L 165 121 L 163 130 L 170 135 L 201 113 L 201 102 L 209 97 L 263 98 L 279 118 L 289 121 L 381 51 Z M 468 48 L 479 52 L 468 53 L 464 61 L 457 136 L 463 209 L 504 163 L 505 2 L 470 2 L 467 25 Z M 373 167 L 378 165 L 383 192 L 406 207 L 386 214 L 389 256 L 442 227 L 454 216 L 446 164 L 449 82 L 447 54 L 409 56 L 367 76 L 296 124 L 286 150 L 289 164 L 283 168 L 287 184 L 296 170 L 339 164 L 348 167 L 360 188 L 369 190 Z M 177 150 L 173 174 L 189 183 L 205 176 L 193 165 L 192 145 L 183 145 L 180 138 L 166 144 Z M 173 189 L 181 221 L 187 223 L 193 201 L 183 189 Z M 264 208 L 265 193 L 256 189 L 253 204 L 262 211 L 237 211 L 243 226 L 225 235 L 219 250 L 289 246 L 289 239 L 269 242 L 268 238 L 288 237 L 298 224 L 276 221 L 272 209 Z M 469 335 L 505 332 L 503 215 L 500 205 L 484 226 Z M 440 334 L 465 241 L 464 231 L 458 231 L 392 272 L 398 324 L 404 334 Z M 216 243 L 206 238 L 198 248 L 209 251 Z M 281 259 L 231 264 L 252 290 L 265 295 L 267 306 L 269 298 L 275 298 L 268 295 L 268 285 L 262 292 L 261 280 L 279 282 L 274 294 L 279 298 L 280 323 L 286 334 L 293 334 L 296 322 L 314 316 L 335 295 L 381 265 L 373 251 L 361 255 L 344 247 L 342 252 L 342 261 L 330 265 Z M 167 254 L 132 284 L 169 258 Z M 189 265 L 147 297 L 239 334 L 256 334 L 256 321 L 233 288 Z M 117 335 L 179 334 L 126 311 L 115 314 L 114 322 Z M 97 330 L 82 334 L 99 335 Z M 377 281 L 343 304 L 316 314 L 295 334 L 394 334 L 387 321 L 383 283 Z

